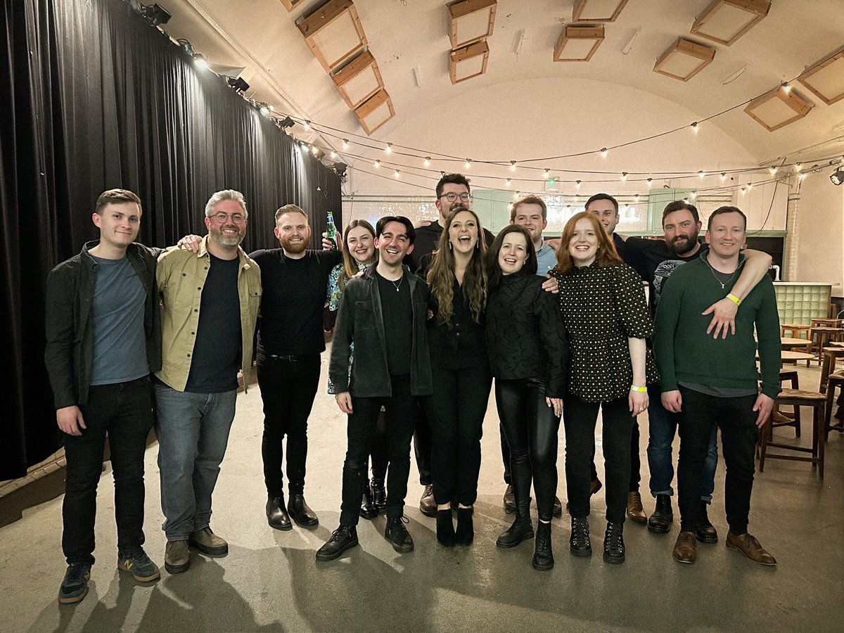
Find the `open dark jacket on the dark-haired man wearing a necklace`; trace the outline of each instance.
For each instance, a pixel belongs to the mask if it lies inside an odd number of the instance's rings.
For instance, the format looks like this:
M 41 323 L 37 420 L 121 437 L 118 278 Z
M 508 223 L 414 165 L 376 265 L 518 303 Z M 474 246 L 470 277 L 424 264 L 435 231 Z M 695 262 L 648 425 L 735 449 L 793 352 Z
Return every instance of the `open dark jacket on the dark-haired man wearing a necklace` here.
M 430 396 L 434 387 L 425 327 L 428 289 L 425 282 L 410 273 L 408 268 L 404 268 L 404 279 L 410 288 L 414 311 L 410 392 L 414 396 Z M 353 341 L 354 360 L 349 372 L 350 344 Z M 349 279 L 340 297 L 328 375 L 335 393 L 349 392 L 355 398 L 384 398 L 392 394 L 387 368 L 387 333 L 381 313 L 376 266 L 371 266 L 360 277 Z

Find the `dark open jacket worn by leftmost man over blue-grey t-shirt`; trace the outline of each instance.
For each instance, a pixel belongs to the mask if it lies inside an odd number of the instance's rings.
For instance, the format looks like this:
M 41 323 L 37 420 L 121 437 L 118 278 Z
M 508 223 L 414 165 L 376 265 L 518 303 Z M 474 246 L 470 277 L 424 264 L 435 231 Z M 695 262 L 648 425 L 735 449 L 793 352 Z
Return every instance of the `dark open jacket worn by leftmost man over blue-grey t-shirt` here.
M 44 361 L 57 409 L 88 402 L 94 366 L 94 304 L 97 263 L 88 252 L 100 243 L 89 241 L 78 255 L 60 263 L 47 276 Z M 161 312 L 155 262 L 158 249 L 132 243 L 127 257 L 143 283 L 147 299 L 143 328 L 149 371 L 161 369 Z

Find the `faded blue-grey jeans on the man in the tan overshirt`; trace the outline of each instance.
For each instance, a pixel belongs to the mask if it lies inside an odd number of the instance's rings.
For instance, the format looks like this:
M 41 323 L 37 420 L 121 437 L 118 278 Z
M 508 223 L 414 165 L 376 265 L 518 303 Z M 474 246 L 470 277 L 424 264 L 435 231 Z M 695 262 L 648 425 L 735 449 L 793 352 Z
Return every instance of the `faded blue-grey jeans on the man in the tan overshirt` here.
M 211 495 L 235 419 L 237 390 L 177 392 L 155 383 L 162 526 L 167 540 L 186 540 L 211 522 Z

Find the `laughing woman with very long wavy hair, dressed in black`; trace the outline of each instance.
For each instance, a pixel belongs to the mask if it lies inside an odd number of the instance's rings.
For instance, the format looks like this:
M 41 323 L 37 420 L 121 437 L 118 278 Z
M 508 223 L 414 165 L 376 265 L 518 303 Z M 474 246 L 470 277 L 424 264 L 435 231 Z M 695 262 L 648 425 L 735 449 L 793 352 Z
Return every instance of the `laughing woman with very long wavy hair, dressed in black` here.
M 431 479 L 436 538 L 452 547 L 474 538 L 480 438 L 492 376 L 484 341 L 486 271 L 483 232 L 468 208 L 452 209 L 427 279 L 434 317 L 428 322 L 434 395 L 425 411 L 431 428 Z M 457 532 L 452 520 L 457 501 Z

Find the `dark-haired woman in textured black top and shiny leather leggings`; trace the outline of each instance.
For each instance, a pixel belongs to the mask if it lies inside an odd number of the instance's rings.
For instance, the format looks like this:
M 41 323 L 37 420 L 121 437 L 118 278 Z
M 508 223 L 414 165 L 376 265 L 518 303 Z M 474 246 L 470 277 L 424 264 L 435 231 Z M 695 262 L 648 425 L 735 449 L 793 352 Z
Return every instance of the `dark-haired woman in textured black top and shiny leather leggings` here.
M 521 226 L 509 225 L 498 234 L 488 262 L 486 344 L 516 495 L 516 520 L 495 544 L 510 548 L 533 537 L 533 480 L 539 511 L 533 567 L 549 570 L 554 566 L 551 513 L 557 490 L 557 432 L 568 365 L 560 304 L 542 289 L 533 240 Z

